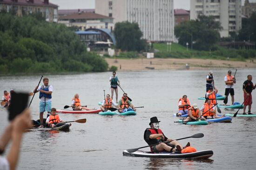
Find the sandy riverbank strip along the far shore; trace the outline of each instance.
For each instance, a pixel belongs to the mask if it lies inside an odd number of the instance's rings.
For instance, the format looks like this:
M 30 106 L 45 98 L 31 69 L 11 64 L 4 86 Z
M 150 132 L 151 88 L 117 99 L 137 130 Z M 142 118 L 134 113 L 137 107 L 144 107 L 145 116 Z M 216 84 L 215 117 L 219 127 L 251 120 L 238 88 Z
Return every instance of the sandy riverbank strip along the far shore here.
M 243 61 L 226 61 L 215 59 L 108 59 L 106 58 L 109 67 L 115 65 L 118 71 L 142 71 L 150 70 L 152 67 L 155 70 L 185 70 L 186 64 L 189 65 L 189 70 L 216 70 L 216 69 L 251 69 L 256 68 L 256 61 L 250 63 L 250 60 Z M 151 64 L 150 64 L 151 62 Z M 120 69 L 121 67 L 121 69 Z

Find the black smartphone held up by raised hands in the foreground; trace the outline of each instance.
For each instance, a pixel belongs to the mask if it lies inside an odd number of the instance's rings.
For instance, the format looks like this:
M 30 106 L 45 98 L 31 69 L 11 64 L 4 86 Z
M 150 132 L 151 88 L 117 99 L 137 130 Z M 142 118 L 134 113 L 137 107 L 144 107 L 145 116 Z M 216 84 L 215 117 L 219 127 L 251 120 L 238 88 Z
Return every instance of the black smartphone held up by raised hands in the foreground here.
M 9 105 L 9 121 L 12 121 L 17 115 L 27 108 L 28 93 L 11 93 Z

